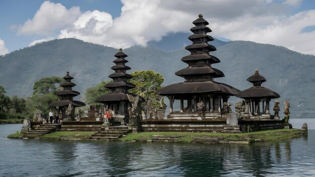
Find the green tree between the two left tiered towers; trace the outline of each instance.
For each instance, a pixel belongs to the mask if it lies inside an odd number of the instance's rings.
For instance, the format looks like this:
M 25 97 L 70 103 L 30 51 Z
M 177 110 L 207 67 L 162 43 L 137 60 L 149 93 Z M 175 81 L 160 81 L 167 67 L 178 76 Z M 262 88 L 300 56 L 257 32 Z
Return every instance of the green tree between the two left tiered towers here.
M 112 81 L 102 81 L 101 83 L 92 86 L 90 88 L 87 88 L 86 92 L 86 103 L 87 104 L 95 104 L 95 100 L 99 97 L 101 97 L 104 94 L 111 93 L 111 90 L 105 87 L 105 85 Z

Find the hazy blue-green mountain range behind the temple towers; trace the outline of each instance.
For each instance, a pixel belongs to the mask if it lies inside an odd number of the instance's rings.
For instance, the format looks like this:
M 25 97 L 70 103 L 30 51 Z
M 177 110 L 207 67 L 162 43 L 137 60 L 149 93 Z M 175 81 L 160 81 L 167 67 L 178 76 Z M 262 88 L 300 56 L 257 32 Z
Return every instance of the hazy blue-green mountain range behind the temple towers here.
M 213 41 L 214 42 L 214 41 Z M 213 44 L 210 42 L 210 44 Z M 159 42 L 157 42 L 159 43 Z M 279 100 L 289 100 L 291 117 L 313 118 L 315 116 L 315 56 L 304 55 L 287 48 L 249 41 L 217 41 L 217 51 L 211 52 L 221 62 L 213 64 L 222 70 L 225 77 L 216 81 L 230 84 L 240 90 L 252 86 L 246 79 L 255 69 L 266 77 L 262 86 L 280 94 Z M 123 50 L 129 57 L 128 66 L 134 70 L 153 69 L 164 75 L 164 85 L 182 82 L 174 73 L 187 64 L 181 61 L 189 54 L 184 47 L 167 51 L 159 45 L 131 47 Z M 27 97 L 32 95 L 34 82 L 47 76 L 64 76 L 66 71 L 77 84 L 73 90 L 84 94 L 88 87 L 102 80 L 110 80 L 108 75 L 114 65 L 113 56 L 118 50 L 78 39 L 56 39 L 26 47 L 5 56 L 0 56 L 0 85 L 9 96 Z M 231 97 L 230 102 L 240 101 Z M 271 103 L 272 109 L 273 103 Z M 283 105 L 281 104 L 281 110 Z M 272 111 L 273 112 L 273 111 Z

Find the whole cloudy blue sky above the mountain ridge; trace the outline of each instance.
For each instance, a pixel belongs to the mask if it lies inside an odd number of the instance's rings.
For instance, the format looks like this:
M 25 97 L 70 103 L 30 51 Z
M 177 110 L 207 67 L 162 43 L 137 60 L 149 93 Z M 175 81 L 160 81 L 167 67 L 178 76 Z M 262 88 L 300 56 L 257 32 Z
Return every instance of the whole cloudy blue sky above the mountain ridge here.
M 115 48 L 190 33 L 202 14 L 210 35 L 315 55 L 313 0 L 1 0 L 0 55 L 58 38 Z

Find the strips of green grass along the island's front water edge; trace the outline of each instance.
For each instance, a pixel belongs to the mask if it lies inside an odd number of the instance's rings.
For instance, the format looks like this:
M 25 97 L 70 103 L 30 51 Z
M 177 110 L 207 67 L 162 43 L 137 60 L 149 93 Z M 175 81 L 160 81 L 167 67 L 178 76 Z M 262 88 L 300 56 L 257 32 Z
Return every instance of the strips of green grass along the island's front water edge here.
M 39 139 L 87 140 L 96 132 L 53 132 Z M 184 143 L 238 143 L 250 144 L 257 141 L 278 140 L 300 135 L 299 129 L 265 130 L 251 133 L 191 133 L 191 132 L 141 132 L 130 133 L 120 141 L 141 142 L 184 142 Z M 8 138 L 23 138 L 23 134 L 11 134 Z

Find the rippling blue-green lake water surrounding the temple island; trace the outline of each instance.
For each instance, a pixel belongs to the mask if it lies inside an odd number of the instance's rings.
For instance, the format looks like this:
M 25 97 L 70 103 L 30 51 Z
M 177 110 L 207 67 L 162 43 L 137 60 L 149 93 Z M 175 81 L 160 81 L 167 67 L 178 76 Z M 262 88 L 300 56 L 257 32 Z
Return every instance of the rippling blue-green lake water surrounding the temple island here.
M 6 138 L 21 127 L 0 125 L 0 176 L 315 176 L 315 130 L 253 145 Z

